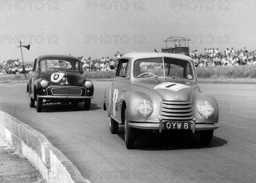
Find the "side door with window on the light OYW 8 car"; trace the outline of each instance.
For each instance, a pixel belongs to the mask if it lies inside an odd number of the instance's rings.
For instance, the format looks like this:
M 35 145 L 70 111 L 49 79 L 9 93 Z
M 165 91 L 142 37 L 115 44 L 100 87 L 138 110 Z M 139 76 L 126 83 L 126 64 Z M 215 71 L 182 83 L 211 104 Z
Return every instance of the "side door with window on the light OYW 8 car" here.
M 130 84 L 130 62 L 129 59 L 120 59 L 118 62 L 115 80 L 111 90 L 112 115 L 118 121 L 121 120 L 122 102 Z

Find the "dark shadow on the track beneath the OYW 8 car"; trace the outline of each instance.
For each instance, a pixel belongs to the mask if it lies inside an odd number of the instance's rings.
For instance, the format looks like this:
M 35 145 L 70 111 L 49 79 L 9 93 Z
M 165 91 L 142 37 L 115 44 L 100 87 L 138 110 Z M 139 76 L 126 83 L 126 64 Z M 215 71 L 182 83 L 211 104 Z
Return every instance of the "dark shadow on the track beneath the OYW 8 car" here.
M 117 134 L 125 143 L 124 128 L 119 127 Z M 203 149 L 219 146 L 228 146 L 227 139 L 212 137 L 212 142 L 209 145 L 200 144 L 200 135 L 183 134 L 180 132 L 163 132 L 154 135 L 151 131 L 143 131 L 137 134 L 134 149 L 138 150 L 178 150 L 178 149 Z

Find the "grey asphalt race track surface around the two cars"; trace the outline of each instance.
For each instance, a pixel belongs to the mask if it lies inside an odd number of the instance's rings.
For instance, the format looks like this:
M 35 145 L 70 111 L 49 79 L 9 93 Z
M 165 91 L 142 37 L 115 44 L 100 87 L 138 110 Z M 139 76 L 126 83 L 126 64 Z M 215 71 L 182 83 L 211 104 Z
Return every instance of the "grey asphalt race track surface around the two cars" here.
M 123 127 L 112 135 L 103 111 L 111 82 L 94 82 L 89 111 L 83 104 L 30 109 L 26 84 L 0 84 L 1 110 L 44 134 L 92 182 L 256 182 L 255 84 L 199 84 L 219 102 L 219 129 L 209 146 L 198 134 L 137 137 L 124 143 Z

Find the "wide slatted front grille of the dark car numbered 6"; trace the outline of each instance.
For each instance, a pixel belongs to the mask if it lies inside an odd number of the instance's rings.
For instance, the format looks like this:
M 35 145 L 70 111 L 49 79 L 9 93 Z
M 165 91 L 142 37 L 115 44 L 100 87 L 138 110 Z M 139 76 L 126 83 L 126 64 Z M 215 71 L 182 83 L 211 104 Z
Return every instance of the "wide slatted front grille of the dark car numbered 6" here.
M 81 96 L 82 89 L 76 87 L 56 87 L 52 88 L 54 96 Z

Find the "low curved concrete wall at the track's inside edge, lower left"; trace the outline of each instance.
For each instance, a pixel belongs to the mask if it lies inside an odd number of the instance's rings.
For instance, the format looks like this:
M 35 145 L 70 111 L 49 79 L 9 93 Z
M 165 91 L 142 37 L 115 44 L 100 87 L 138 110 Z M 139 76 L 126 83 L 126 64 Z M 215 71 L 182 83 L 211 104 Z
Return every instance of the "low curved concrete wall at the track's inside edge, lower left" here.
M 24 155 L 47 183 L 90 183 L 40 132 L 0 110 L 1 141 Z

